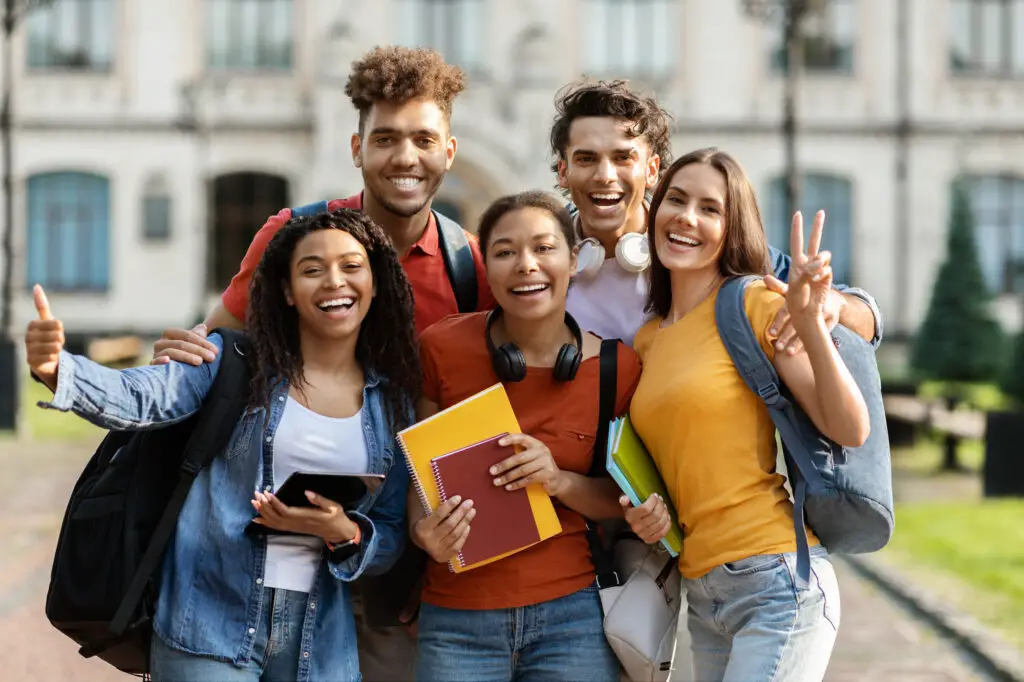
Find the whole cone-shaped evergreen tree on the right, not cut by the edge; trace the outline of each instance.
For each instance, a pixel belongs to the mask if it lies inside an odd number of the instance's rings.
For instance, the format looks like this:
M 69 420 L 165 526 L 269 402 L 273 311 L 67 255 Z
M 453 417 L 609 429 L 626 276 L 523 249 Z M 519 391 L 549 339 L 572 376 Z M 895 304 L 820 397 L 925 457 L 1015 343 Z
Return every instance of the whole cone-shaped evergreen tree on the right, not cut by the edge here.
M 962 180 L 953 185 L 946 259 L 910 355 L 910 365 L 922 378 L 948 383 L 945 397 L 950 410 L 959 402 L 961 384 L 996 380 L 1006 368 L 1006 339 L 989 311 L 991 300 Z M 943 469 L 959 468 L 956 445 L 956 437 L 947 434 Z

